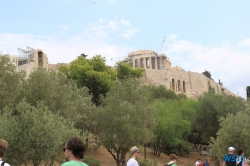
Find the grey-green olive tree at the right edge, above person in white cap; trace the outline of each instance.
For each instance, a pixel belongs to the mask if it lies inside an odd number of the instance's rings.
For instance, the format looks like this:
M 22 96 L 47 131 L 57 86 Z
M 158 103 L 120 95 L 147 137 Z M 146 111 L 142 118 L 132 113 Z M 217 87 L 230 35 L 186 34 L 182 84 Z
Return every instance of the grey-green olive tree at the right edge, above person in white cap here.
M 249 156 L 249 115 L 250 103 L 248 102 L 245 110 L 220 118 L 220 128 L 216 134 L 217 138 L 212 137 L 210 143 L 210 150 L 214 155 L 222 158 L 230 145 L 237 150 L 243 149 L 245 156 Z

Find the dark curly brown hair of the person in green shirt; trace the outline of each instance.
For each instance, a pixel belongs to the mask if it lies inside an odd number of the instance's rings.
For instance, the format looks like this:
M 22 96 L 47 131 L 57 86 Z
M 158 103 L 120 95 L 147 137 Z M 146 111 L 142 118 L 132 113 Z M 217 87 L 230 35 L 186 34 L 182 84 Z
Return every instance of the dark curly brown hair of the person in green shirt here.
M 75 157 L 83 159 L 84 153 L 86 151 L 86 146 L 83 141 L 77 137 L 71 137 L 67 141 L 67 148 L 72 151 Z

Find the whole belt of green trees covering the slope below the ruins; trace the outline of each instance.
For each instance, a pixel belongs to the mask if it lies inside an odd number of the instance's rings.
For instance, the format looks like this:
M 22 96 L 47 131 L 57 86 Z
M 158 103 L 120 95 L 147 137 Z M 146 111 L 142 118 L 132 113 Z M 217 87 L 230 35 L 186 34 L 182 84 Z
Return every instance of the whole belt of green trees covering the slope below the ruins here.
M 210 144 L 217 156 L 229 145 L 250 153 L 246 101 L 213 89 L 190 99 L 162 85 L 141 84 L 143 72 L 123 62 L 111 68 L 100 55 L 82 55 L 58 73 L 38 68 L 24 79 L 25 73 L 0 56 L 0 138 L 9 142 L 6 159 L 12 165 L 62 162 L 61 149 L 70 136 L 86 144 L 94 138 L 117 166 L 139 144 L 156 156 L 189 153 L 190 143 Z

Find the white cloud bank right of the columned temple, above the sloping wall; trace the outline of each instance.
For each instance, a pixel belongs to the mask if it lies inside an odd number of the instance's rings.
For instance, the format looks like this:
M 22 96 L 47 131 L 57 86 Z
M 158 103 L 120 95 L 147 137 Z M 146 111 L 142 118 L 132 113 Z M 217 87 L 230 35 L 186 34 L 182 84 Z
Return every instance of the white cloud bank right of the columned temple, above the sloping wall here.
M 199 73 L 208 70 L 216 82 L 220 79 L 226 88 L 245 97 L 246 86 L 250 85 L 249 41 L 245 39 L 238 43 L 224 41 L 203 45 L 174 39 L 168 41 L 166 54 L 172 65 Z

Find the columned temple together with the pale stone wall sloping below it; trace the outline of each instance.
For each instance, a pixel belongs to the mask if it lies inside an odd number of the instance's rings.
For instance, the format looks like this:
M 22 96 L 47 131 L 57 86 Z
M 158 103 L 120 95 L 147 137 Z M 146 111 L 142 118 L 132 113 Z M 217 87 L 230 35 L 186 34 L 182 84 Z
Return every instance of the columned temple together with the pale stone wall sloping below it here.
M 124 62 L 130 63 L 133 68 L 144 68 L 143 81 L 146 84 L 164 85 L 167 89 L 184 93 L 188 97 L 199 98 L 209 88 L 214 88 L 219 94 L 235 95 L 201 73 L 187 72 L 178 66 L 172 67 L 166 55 L 158 55 L 152 50 L 129 53 Z

